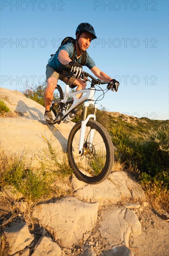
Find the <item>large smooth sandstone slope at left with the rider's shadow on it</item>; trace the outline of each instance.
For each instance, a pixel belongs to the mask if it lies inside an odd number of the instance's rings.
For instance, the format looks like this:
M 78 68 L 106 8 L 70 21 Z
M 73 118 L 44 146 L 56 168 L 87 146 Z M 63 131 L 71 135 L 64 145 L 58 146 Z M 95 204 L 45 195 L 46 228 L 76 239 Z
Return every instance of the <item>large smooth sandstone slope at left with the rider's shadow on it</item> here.
M 43 149 L 47 148 L 47 144 L 42 135 L 53 141 L 58 152 L 67 150 L 69 132 L 75 123 L 47 124 L 44 119 L 45 108 L 18 91 L 0 88 L 0 97 L 7 98 L 11 108 L 22 115 L 15 118 L 13 115 L 0 117 L 1 154 L 24 157 L 27 165 L 31 162 L 33 168 L 39 168 L 39 161 L 43 160 L 45 164 L 49 162 L 45 162 L 47 155 Z

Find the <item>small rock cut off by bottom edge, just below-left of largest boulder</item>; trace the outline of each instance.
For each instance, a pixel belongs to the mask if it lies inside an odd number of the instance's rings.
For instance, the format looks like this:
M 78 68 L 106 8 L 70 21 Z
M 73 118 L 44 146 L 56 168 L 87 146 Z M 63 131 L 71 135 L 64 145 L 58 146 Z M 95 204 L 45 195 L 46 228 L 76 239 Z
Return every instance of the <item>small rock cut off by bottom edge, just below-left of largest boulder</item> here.
M 42 236 L 35 246 L 32 256 L 62 256 L 62 249 L 50 237 Z

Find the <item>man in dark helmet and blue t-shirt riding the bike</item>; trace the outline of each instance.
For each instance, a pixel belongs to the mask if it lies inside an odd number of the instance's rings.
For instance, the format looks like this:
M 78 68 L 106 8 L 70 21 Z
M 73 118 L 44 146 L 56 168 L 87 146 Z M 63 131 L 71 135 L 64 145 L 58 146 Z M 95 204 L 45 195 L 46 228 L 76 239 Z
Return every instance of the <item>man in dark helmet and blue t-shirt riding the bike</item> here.
M 74 46 L 73 43 L 67 43 L 63 45 L 59 51 L 53 55 L 46 66 L 46 81 L 47 87 L 44 92 L 44 103 L 45 103 L 45 114 L 44 117 L 47 123 L 53 123 L 53 118 L 50 113 L 50 104 L 53 100 L 53 93 L 57 85 L 58 79 L 65 82 L 67 81 L 67 77 L 65 76 L 64 69 L 65 65 L 69 64 L 71 67 L 71 73 L 74 74 L 74 77 L 70 77 L 70 87 L 76 88 L 76 91 L 85 89 L 87 83 L 80 79 L 82 66 L 81 60 L 82 55 L 90 46 L 92 40 L 96 39 L 96 34 L 94 28 L 89 23 L 81 23 L 78 25 L 75 31 L 75 58 L 71 60 L 70 58 L 73 55 Z M 84 66 L 87 66 L 92 73 L 97 76 L 102 81 L 112 81 L 116 83 L 116 87 L 118 88 L 119 82 L 113 80 L 110 76 L 101 71 L 98 67 L 96 67 L 93 59 L 86 52 L 86 61 Z M 82 94 L 78 94 L 77 98 L 80 98 Z

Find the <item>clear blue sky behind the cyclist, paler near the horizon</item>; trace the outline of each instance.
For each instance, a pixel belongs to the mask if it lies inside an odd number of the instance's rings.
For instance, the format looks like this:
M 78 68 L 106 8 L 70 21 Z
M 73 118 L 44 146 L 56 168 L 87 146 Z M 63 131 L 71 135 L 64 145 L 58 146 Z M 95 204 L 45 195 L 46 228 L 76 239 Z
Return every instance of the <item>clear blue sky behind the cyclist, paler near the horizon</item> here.
M 50 54 L 64 37 L 75 36 L 79 23 L 89 22 L 97 35 L 89 55 L 97 67 L 120 81 L 118 92 L 106 93 L 99 106 L 136 117 L 169 119 L 168 0 L 0 4 L 1 87 L 20 90 L 26 80 L 29 85 L 43 82 Z

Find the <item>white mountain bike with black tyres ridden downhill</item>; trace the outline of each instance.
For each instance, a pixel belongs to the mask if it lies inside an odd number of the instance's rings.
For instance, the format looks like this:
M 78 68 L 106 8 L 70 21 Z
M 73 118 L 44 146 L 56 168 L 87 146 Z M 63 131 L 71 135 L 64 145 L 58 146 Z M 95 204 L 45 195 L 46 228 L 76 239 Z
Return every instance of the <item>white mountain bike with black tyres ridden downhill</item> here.
M 114 149 L 110 135 L 106 129 L 96 121 L 97 100 L 94 100 L 95 86 L 106 84 L 106 90 L 111 88 L 111 82 L 95 79 L 91 74 L 82 72 L 81 79 L 90 82 L 90 88 L 69 92 L 69 78 L 65 92 L 57 85 L 59 100 L 52 102 L 50 111 L 55 116 L 54 124 L 69 122 L 75 115 L 79 115 L 77 107 L 84 103 L 82 120 L 71 129 L 68 138 L 69 165 L 75 176 L 82 182 L 97 184 L 103 182 L 110 174 L 114 164 Z M 91 80 L 90 80 L 91 79 Z M 99 87 L 100 88 L 100 87 Z M 99 89 L 103 92 L 102 88 Z M 112 89 L 113 90 L 113 89 Z M 82 93 L 77 99 L 76 95 Z M 88 114 L 88 106 L 92 104 L 93 114 Z M 81 112 L 80 111 L 80 112 Z

